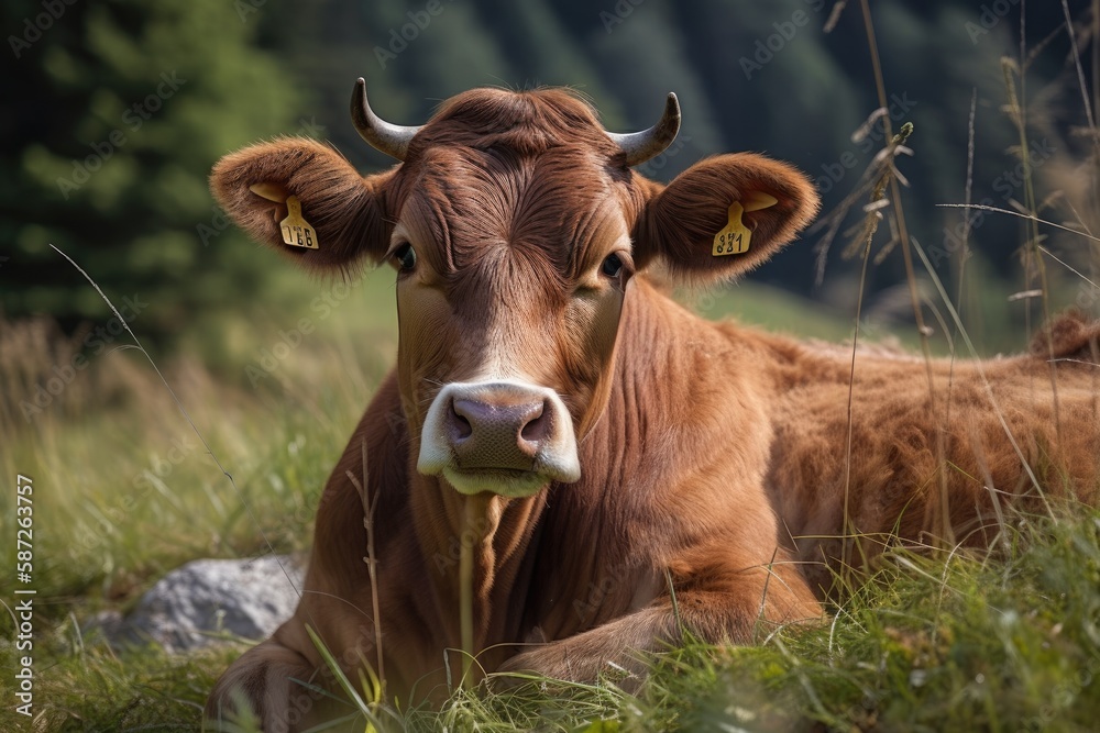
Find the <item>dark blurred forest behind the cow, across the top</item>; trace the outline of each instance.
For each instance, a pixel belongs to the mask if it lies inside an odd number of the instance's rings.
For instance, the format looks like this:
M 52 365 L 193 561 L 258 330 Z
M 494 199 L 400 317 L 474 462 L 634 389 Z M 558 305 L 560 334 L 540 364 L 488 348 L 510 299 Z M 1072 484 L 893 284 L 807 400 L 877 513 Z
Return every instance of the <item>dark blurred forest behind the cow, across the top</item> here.
M 1093 100 L 1085 90 L 1093 88 L 1098 55 L 1088 0 L 1066 7 L 1080 79 L 1060 2 L 873 0 L 871 7 L 893 127 L 915 125 L 914 155 L 899 164 L 910 184 L 910 229 L 949 292 L 958 288 L 963 212 L 936 204 L 965 200 L 971 93 L 971 200 L 1023 207 L 1019 151 L 1026 147 L 1040 213 L 1091 225 L 1096 147 L 1087 108 Z M 229 225 L 207 175 L 228 152 L 294 134 L 328 141 L 364 173 L 391 165 L 350 123 L 359 76 L 367 79 L 374 108 L 406 124 L 479 85 L 569 85 L 592 98 L 608 130 L 628 131 L 652 124 L 663 96 L 675 91 L 680 138 L 641 173 L 668 180 L 705 155 L 761 151 L 805 170 L 824 211 L 834 211 L 857 189 L 882 140 L 876 126 L 870 138 L 853 142 L 879 104 L 859 5 L 839 12 L 826 33 L 833 11 L 834 0 L 6 2 L 0 311 L 9 321 L 45 314 L 81 348 L 110 319 L 79 273 L 50 249 L 53 243 L 108 295 L 134 302 L 135 329 L 162 353 L 187 348 L 218 368 L 232 360 L 234 323 L 278 325 L 280 313 L 293 322 L 324 286 L 288 271 Z M 1007 75 L 1004 56 L 1023 73 Z M 1004 110 L 1007 79 L 1026 108 L 1023 145 Z M 858 223 L 864 201 L 849 223 Z M 978 213 L 971 224 L 976 256 L 966 267 L 976 285 L 964 290 L 972 301 L 964 319 L 983 326 L 976 335 L 985 352 L 1022 348 L 1028 299 L 1007 299 L 1037 287 L 1021 264 L 1026 223 Z M 1043 232 L 1050 237 L 1044 246 L 1097 281 L 1087 240 Z M 803 236 L 751 280 L 850 320 L 858 258 L 842 258 L 838 241 L 818 277 L 820 237 Z M 880 236 L 877 248 L 889 238 Z M 1057 304 L 1096 307 L 1096 293 L 1079 278 L 1064 292 L 1058 282 L 1050 285 Z M 887 326 L 913 321 L 898 249 L 871 267 L 864 316 Z M 33 380 L 21 384 L 33 389 Z

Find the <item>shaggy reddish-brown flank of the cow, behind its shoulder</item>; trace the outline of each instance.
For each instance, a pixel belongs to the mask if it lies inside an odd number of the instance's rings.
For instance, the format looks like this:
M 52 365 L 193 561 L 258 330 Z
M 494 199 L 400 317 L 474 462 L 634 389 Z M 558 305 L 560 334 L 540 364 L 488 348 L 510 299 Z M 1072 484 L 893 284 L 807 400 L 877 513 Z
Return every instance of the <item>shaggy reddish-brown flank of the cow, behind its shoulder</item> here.
M 1059 326 L 1070 335 L 982 363 L 875 349 L 853 363 L 850 347 L 761 337 L 779 355 L 767 487 L 815 590 L 837 560 L 860 566 L 889 544 L 988 546 L 1010 506 L 1096 503 L 1100 324 Z M 860 542 L 844 549 L 844 534 Z

